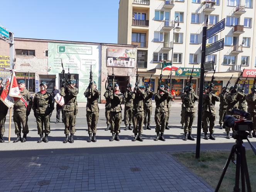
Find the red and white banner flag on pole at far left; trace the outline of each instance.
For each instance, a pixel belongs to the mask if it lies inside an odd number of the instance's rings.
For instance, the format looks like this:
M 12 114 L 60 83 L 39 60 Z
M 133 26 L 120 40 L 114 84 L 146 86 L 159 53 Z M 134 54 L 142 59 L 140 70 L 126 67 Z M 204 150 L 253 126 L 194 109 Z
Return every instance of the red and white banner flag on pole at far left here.
M 1 94 L 1 101 L 8 107 L 11 108 L 15 103 L 17 103 L 20 98 L 20 95 L 17 79 L 15 72 L 12 71 L 11 77 L 7 79 L 5 88 Z

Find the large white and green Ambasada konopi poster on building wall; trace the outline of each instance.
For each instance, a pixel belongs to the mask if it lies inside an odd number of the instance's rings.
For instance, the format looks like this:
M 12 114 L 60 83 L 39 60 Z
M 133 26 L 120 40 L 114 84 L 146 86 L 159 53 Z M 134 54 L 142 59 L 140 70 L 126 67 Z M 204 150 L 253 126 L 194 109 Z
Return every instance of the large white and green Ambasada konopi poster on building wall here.
M 84 91 L 89 85 L 91 68 L 93 81 L 96 81 L 98 89 L 101 89 L 99 83 L 101 74 L 100 54 L 101 45 L 48 43 L 48 74 L 56 75 L 56 82 L 61 82 L 59 73 L 62 71 L 62 59 L 65 73 L 68 72 L 69 68 L 69 73 L 79 77 L 77 78 L 79 79 L 77 101 L 79 103 L 86 102 Z M 56 86 L 58 85 L 56 84 Z

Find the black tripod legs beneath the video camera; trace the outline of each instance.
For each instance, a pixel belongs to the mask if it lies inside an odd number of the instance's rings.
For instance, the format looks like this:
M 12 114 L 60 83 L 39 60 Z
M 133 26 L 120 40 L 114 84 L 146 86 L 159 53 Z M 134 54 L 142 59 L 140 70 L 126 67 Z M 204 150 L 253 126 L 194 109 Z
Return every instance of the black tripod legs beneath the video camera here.
M 247 186 L 247 191 L 251 192 L 251 184 L 250 184 L 250 179 L 249 179 L 249 173 L 248 173 L 248 167 L 247 167 L 246 155 L 245 155 L 245 147 L 243 145 L 243 139 L 247 139 L 247 136 L 244 137 L 244 136 L 236 135 L 236 144 L 233 145 L 233 147 L 231 149 L 231 153 L 229 155 L 229 158 L 227 159 L 226 165 L 223 169 L 221 178 L 219 179 L 219 182 L 218 182 L 215 192 L 219 191 L 219 187 L 221 186 L 221 182 L 224 178 L 227 167 L 229 166 L 229 163 L 231 160 L 236 165 L 236 179 L 235 179 L 235 186 L 234 186 L 233 192 L 240 191 L 240 189 L 239 189 L 240 171 L 241 171 L 242 192 L 246 191 L 245 190 L 245 182 L 246 182 L 246 186 Z M 250 143 L 250 145 L 251 145 L 251 143 Z M 236 153 L 236 161 L 235 161 L 235 153 Z

